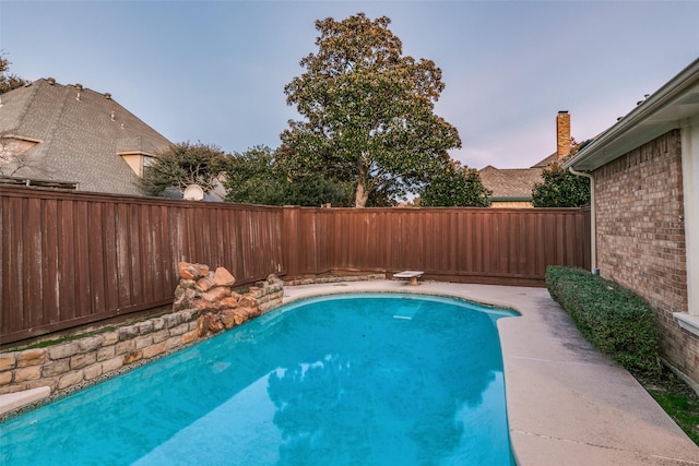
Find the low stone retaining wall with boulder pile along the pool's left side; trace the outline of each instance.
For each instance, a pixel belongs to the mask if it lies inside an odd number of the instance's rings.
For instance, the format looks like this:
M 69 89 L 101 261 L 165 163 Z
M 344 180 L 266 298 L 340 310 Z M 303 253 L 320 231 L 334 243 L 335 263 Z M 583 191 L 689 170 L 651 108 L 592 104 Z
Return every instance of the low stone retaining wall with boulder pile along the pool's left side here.
M 130 366 L 181 349 L 282 304 L 282 280 L 270 275 L 245 294 L 223 267 L 180 263 L 173 312 L 45 348 L 0 353 L 0 394 L 48 386 L 71 391 Z

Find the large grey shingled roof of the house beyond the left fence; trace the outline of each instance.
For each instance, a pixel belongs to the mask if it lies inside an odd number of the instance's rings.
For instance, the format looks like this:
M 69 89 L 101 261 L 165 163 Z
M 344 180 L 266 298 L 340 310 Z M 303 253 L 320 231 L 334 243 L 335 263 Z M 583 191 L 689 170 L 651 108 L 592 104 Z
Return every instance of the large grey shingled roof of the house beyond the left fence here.
M 15 176 L 78 183 L 81 191 L 142 195 L 120 155 L 153 156 L 171 143 L 111 98 L 42 79 L 0 96 L 3 147 L 22 153 Z

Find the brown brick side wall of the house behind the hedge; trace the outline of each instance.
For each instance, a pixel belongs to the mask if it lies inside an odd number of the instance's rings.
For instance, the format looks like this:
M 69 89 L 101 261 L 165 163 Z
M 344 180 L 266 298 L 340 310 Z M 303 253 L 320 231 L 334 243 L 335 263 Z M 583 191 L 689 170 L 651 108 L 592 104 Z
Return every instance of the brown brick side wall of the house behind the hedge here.
M 687 312 L 682 142 L 671 131 L 594 172 L 597 266 L 655 310 L 663 356 L 699 383 L 699 338 L 673 312 Z

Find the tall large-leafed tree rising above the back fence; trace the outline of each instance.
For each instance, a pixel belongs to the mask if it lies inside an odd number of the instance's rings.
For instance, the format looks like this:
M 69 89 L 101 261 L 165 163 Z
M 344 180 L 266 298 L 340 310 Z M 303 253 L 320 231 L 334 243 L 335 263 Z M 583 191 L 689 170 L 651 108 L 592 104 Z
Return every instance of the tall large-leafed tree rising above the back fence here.
M 419 188 L 460 147 L 454 127 L 434 113 L 445 84 L 431 60 L 402 55 L 386 16 L 317 21 L 318 51 L 284 88 L 300 121 L 282 133 L 291 174 L 322 170 L 352 181 L 355 205 Z

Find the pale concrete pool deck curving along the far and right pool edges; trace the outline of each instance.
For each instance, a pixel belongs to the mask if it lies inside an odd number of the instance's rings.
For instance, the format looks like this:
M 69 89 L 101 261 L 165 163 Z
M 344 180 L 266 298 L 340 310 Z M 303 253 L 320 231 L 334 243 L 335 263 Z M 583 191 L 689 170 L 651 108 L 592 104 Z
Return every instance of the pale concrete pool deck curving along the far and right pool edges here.
M 284 302 L 370 291 L 453 296 L 521 314 L 498 321 L 519 465 L 699 465 L 699 446 L 636 379 L 580 335 L 544 288 L 341 282 L 286 286 Z

